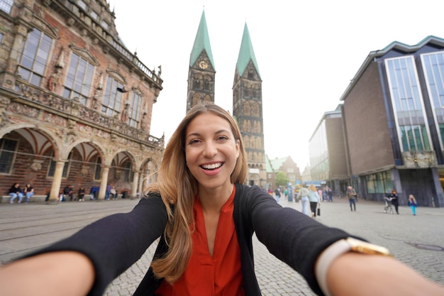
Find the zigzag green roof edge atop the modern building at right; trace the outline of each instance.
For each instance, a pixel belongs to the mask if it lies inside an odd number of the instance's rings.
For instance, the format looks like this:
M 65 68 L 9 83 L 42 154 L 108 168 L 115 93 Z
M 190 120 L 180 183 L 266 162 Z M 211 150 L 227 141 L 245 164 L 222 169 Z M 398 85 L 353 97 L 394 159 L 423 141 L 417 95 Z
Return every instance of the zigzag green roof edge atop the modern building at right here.
M 421 40 L 416 45 L 406 45 L 405 43 L 401 43 L 399 41 L 394 41 L 394 42 L 390 43 L 389 45 L 387 45 L 382 50 L 371 51 L 369 53 L 369 55 L 367 56 L 367 58 L 365 59 L 365 61 L 362 63 L 359 70 L 357 70 L 355 77 L 353 77 L 353 80 L 350 80 L 350 84 L 348 84 L 347 89 L 345 89 L 345 92 L 340 97 L 340 101 L 343 101 L 345 99 L 345 97 L 348 96 L 348 93 L 353 89 L 357 80 L 359 80 L 360 76 L 364 73 L 365 69 L 368 67 L 368 65 L 370 65 L 370 63 L 374 60 L 374 58 L 382 57 L 383 55 L 389 53 L 389 51 L 391 51 L 391 50 L 400 50 L 400 51 L 404 51 L 406 53 L 414 53 L 417 50 L 423 48 L 425 45 L 428 45 L 428 44 L 438 45 L 438 46 L 444 48 L 444 39 L 439 38 L 439 37 L 435 37 L 433 35 L 428 35 L 426 38 Z

